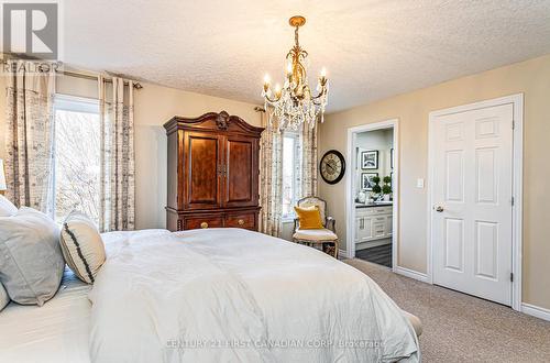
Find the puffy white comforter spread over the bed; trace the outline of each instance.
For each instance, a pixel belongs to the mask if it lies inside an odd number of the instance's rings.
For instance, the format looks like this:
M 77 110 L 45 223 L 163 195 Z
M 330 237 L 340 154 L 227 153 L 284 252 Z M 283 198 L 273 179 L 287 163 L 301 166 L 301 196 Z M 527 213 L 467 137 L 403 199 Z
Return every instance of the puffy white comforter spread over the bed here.
M 419 360 L 413 327 L 363 273 L 240 229 L 135 233 L 89 297 L 92 362 Z

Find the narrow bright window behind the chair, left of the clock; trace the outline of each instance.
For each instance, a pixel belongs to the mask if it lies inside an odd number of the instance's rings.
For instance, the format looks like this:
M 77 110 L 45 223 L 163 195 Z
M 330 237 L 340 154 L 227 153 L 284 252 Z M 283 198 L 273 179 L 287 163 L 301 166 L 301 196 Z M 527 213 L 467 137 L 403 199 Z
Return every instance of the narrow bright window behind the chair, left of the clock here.
M 293 219 L 294 206 L 298 201 L 299 186 L 299 138 L 286 132 L 283 136 L 283 219 Z

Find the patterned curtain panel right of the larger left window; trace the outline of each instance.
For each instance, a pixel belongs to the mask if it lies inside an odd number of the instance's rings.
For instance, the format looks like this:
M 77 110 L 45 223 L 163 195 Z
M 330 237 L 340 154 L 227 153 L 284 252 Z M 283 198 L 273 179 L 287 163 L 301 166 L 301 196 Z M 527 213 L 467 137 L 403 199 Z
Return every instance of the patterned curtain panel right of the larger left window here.
M 101 114 L 100 229 L 135 227 L 133 82 L 119 77 L 112 85 L 98 77 Z

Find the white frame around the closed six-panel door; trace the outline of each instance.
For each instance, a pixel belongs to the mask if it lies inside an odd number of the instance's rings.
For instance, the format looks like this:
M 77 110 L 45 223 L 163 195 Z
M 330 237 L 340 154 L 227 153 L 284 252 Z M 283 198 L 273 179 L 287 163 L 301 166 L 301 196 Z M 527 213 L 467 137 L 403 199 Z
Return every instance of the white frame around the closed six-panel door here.
M 428 256 L 427 275 L 428 283 L 433 284 L 433 241 L 431 233 L 432 206 L 433 206 L 433 166 L 435 166 L 435 124 L 437 118 L 441 116 L 459 113 L 464 111 L 479 110 L 495 106 L 513 105 L 513 212 L 512 212 L 512 272 L 514 280 L 512 283 L 512 308 L 521 310 L 521 246 L 522 246 L 522 156 L 524 156 L 524 94 L 516 94 L 485 100 L 475 103 L 469 103 L 448 109 L 437 110 L 429 113 L 428 125 Z

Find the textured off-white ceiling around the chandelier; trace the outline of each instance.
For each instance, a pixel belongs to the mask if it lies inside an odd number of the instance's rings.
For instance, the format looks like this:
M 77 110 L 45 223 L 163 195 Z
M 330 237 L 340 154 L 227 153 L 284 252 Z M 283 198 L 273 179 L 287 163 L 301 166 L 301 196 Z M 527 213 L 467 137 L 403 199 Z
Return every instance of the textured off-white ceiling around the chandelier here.
M 248 102 L 282 80 L 290 15 L 329 111 L 550 53 L 550 0 L 68 0 L 69 65 Z

